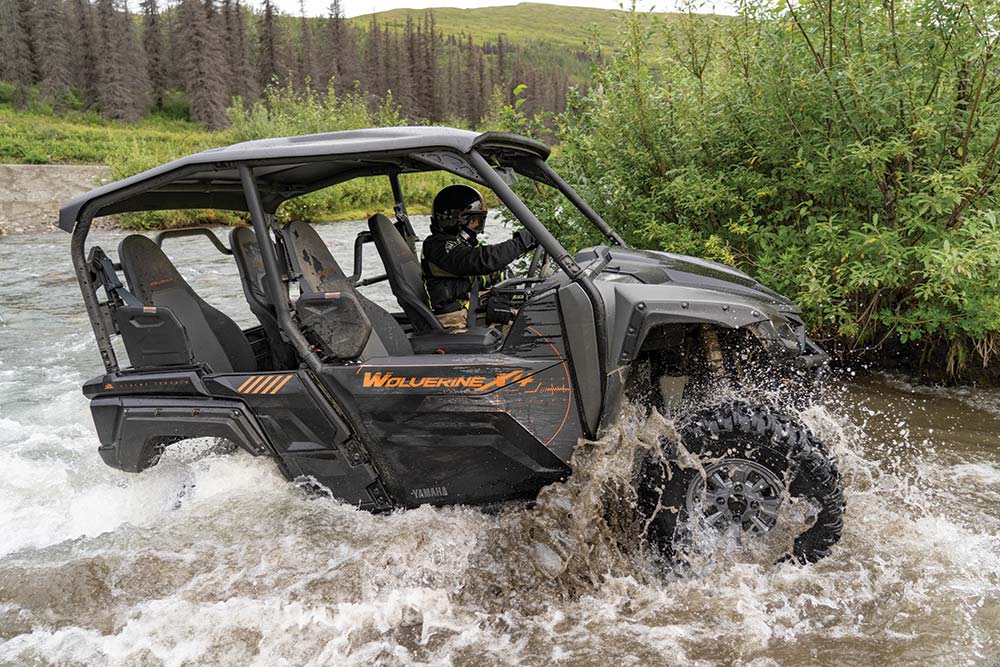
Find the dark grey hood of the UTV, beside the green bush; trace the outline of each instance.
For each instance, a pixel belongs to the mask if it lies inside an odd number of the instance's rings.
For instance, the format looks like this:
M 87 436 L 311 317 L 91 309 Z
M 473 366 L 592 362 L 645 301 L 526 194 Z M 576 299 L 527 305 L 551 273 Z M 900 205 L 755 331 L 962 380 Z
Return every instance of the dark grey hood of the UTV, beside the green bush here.
M 624 274 L 647 285 L 696 287 L 759 300 L 781 311 L 798 312 L 789 299 L 725 264 L 656 250 L 611 248 L 610 252 L 611 261 L 602 272 L 605 277 Z M 585 248 L 577 253 L 576 261 L 585 265 L 596 257 L 594 248 Z

